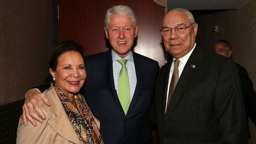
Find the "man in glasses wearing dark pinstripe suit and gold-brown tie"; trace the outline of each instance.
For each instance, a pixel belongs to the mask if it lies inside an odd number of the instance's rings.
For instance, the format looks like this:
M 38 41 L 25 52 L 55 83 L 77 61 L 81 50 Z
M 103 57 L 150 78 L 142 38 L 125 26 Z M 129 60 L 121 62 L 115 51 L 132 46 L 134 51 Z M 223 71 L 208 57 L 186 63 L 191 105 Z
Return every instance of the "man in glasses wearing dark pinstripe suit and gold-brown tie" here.
M 173 59 L 160 69 L 156 85 L 152 118 L 157 121 L 160 144 L 248 143 L 235 63 L 195 43 L 198 24 L 188 10 L 170 10 L 162 25 L 164 46 Z M 169 94 L 175 59 L 180 61 L 179 79 Z

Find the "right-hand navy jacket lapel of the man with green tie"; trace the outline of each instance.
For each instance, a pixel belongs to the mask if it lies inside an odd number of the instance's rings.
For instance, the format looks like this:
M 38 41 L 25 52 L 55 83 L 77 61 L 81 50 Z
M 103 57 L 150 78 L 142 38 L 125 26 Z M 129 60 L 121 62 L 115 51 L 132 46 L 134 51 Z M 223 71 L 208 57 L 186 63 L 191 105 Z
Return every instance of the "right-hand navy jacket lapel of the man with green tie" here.
M 129 109 L 128 109 L 126 115 L 128 115 L 131 112 L 132 108 L 134 107 L 134 105 L 135 105 L 135 103 L 138 99 L 140 89 L 142 87 L 143 65 L 142 65 L 139 57 L 140 56 L 137 55 L 137 53 L 133 52 L 133 60 L 134 60 L 134 66 L 135 66 L 135 71 L 136 71 L 137 84 L 136 84 L 135 91 L 134 91 L 134 94 L 133 94 L 133 97 L 132 97 L 132 101 L 130 103 L 130 106 L 129 106 Z

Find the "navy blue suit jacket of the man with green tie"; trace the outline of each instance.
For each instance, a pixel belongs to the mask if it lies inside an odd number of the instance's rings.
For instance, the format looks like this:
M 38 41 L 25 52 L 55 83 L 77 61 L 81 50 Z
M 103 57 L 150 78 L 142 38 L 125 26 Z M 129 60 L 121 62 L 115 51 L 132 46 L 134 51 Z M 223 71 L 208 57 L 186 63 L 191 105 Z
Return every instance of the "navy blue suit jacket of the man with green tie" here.
M 111 49 L 86 56 L 86 82 L 81 89 L 93 115 L 100 121 L 105 144 L 150 144 L 149 110 L 159 71 L 157 61 L 133 52 L 137 84 L 125 115 L 114 85 Z

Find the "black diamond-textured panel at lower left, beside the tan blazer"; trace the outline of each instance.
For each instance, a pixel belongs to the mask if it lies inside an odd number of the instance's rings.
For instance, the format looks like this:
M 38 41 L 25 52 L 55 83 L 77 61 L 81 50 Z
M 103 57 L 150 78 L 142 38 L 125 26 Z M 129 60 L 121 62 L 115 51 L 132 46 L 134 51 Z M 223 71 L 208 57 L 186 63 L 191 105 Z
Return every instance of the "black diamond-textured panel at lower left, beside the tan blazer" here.
M 0 144 L 16 144 L 19 117 L 25 99 L 0 105 Z

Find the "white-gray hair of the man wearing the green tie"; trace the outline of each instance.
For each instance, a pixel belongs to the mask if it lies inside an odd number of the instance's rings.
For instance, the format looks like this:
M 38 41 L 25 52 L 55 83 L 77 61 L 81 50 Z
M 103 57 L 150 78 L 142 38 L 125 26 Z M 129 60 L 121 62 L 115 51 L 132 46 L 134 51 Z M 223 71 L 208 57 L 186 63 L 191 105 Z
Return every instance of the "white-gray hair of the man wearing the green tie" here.
M 108 24 L 110 23 L 110 18 L 113 14 L 117 14 L 119 16 L 129 17 L 134 24 L 134 27 L 137 25 L 137 19 L 133 12 L 133 10 L 124 5 L 112 6 L 110 9 L 107 10 L 105 16 L 105 27 L 108 29 Z

